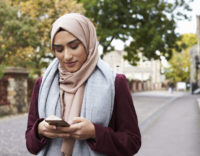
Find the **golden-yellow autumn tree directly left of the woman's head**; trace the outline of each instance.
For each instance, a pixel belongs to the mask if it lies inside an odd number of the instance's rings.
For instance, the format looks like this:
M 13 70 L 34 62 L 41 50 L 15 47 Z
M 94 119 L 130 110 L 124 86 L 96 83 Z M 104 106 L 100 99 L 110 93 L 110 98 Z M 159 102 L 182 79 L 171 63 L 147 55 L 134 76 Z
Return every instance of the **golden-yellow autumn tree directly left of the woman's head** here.
M 29 46 L 19 45 L 19 48 L 10 50 L 10 57 L 7 59 L 7 65 L 24 66 L 31 70 L 31 74 L 41 75 L 41 69 L 47 67 L 50 60 L 54 58 L 50 52 L 50 31 L 52 23 L 61 15 L 69 12 L 83 13 L 84 9 L 81 4 L 77 4 L 76 0 L 6 0 L 9 6 L 8 10 L 15 8 L 15 16 L 18 15 L 16 22 L 21 23 L 21 20 L 29 19 L 26 22 L 29 25 L 23 25 L 24 36 L 26 38 L 18 38 L 15 40 L 16 44 L 29 41 Z M 7 13 L 7 12 L 5 12 Z M 1 15 L 0 15 L 1 16 Z M 3 16 L 3 15 L 2 15 Z M 7 19 L 3 19 L 7 22 Z M 11 23 L 12 27 L 16 24 Z M 2 30 L 2 32 L 10 33 L 9 30 Z M 33 30 L 33 32 L 30 32 Z M 16 30 L 17 31 L 17 30 Z M 7 47 L 7 45 L 5 46 Z M 7 54 L 8 52 L 6 52 Z M 13 55 L 15 53 L 15 56 Z M 17 56 L 17 57 L 16 57 Z M 16 64 L 16 61 L 19 60 Z

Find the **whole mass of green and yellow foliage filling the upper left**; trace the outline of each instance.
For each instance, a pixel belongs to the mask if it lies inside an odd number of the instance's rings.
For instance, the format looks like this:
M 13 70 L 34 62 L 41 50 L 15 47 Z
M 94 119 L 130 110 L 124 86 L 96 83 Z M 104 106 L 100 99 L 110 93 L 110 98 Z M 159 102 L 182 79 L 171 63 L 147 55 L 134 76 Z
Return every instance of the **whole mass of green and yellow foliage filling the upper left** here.
M 52 23 L 69 12 L 83 13 L 76 0 L 0 1 L 0 63 L 30 69 L 41 75 L 54 58 L 50 52 Z

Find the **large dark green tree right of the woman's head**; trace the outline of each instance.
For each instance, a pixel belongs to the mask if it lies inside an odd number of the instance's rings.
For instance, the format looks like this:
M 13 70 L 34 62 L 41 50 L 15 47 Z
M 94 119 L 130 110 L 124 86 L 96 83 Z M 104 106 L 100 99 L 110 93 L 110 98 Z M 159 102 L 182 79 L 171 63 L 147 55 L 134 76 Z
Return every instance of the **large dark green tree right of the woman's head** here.
M 159 59 L 155 51 L 170 59 L 172 49 L 180 50 L 176 42 L 176 20 L 188 16 L 180 8 L 190 10 L 184 0 L 79 0 L 84 4 L 86 16 L 97 26 L 97 35 L 103 46 L 103 55 L 114 49 L 114 39 L 128 41 L 127 59 L 135 65 L 138 53 L 147 59 Z M 192 0 L 190 0 L 192 1 Z

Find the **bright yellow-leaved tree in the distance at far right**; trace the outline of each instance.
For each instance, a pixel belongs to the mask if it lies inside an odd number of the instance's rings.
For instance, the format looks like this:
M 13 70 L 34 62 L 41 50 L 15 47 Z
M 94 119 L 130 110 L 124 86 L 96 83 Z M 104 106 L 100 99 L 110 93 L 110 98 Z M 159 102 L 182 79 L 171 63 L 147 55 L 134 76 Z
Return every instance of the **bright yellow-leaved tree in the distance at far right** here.
M 189 82 L 190 80 L 190 54 L 189 49 L 197 44 L 197 37 L 194 34 L 184 34 L 177 42 L 185 49 L 181 52 L 173 50 L 173 56 L 169 60 L 169 67 L 165 68 L 166 79 L 176 82 Z

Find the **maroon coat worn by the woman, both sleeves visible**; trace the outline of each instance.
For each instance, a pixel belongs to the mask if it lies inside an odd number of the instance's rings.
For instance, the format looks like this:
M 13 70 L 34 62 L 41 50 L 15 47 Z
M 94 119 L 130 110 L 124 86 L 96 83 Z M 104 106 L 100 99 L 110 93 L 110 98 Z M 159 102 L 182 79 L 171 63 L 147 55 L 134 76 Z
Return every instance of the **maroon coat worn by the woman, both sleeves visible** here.
M 39 138 L 37 133 L 38 123 L 43 120 L 38 115 L 41 82 L 42 79 L 38 79 L 33 89 L 26 130 L 26 146 L 33 154 L 37 154 L 49 140 L 46 137 Z M 87 140 L 92 150 L 108 156 L 132 156 L 140 149 L 141 135 L 137 115 L 124 75 L 117 74 L 115 79 L 115 102 L 109 126 L 94 125 L 96 140 Z

